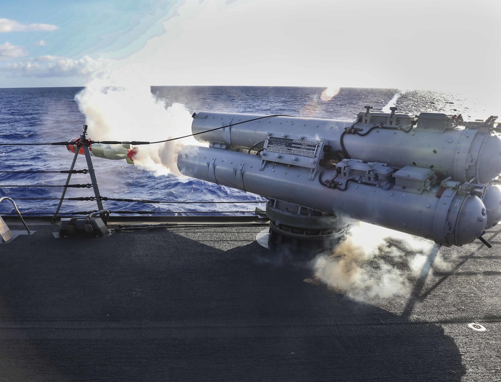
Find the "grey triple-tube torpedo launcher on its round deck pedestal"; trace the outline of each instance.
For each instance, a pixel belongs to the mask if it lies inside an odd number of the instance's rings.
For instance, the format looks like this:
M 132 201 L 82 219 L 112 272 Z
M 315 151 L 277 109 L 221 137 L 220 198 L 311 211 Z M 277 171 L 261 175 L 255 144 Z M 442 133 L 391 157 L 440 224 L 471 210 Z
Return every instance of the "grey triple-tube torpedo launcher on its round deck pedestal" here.
M 193 114 L 209 147 L 186 146 L 181 173 L 268 199 L 269 243 L 336 242 L 347 219 L 444 246 L 501 219 L 497 117 L 365 112 L 355 121 Z

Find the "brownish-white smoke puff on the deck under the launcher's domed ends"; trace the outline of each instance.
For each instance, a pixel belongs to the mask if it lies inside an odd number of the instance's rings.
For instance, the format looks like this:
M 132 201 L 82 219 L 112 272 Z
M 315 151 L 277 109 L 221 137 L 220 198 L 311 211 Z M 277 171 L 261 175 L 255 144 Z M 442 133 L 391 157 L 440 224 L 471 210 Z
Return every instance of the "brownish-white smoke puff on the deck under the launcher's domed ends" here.
M 311 265 L 318 279 L 354 299 L 407 297 L 413 281 L 428 276 L 432 266 L 447 268 L 440 252 L 430 256 L 436 250 L 434 245 L 429 240 L 356 223 L 332 255 L 319 255 Z

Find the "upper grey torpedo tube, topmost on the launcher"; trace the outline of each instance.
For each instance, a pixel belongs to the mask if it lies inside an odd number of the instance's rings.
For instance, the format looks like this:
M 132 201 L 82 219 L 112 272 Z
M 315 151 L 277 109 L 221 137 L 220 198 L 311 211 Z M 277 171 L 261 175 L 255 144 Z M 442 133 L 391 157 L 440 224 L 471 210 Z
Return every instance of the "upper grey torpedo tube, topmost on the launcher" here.
M 317 136 L 338 156 L 344 152 L 344 157 L 394 168 L 431 168 L 442 178 L 488 184 L 501 173 L 501 137 L 493 128 L 495 118 L 458 125 L 442 113 L 421 113 L 416 120 L 406 113 L 369 109 L 355 121 L 202 111 L 193 114 L 191 128 L 200 142 L 242 150 L 262 148 L 269 132 Z

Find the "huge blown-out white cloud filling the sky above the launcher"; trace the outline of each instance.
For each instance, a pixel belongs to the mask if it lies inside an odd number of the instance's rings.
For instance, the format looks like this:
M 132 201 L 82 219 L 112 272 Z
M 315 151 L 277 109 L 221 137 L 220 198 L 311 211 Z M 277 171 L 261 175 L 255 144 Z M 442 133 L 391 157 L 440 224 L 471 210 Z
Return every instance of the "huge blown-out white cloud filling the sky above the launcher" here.
M 123 66 L 158 85 L 458 90 L 501 79 L 495 67 L 501 35 L 495 19 L 484 17 L 501 16 L 499 6 L 401 3 L 185 0 L 164 22 L 165 32 Z M 455 19 L 448 23 L 450 13 Z

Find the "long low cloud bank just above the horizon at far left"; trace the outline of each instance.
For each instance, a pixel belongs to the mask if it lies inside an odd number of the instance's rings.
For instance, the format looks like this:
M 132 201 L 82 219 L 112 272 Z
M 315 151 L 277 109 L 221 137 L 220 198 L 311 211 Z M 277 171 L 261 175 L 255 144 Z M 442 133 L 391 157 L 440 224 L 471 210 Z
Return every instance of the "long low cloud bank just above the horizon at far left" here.
M 58 56 L 40 56 L 11 63 L 3 68 L 12 77 L 96 77 L 106 70 L 106 60 L 84 56 L 80 60 Z

